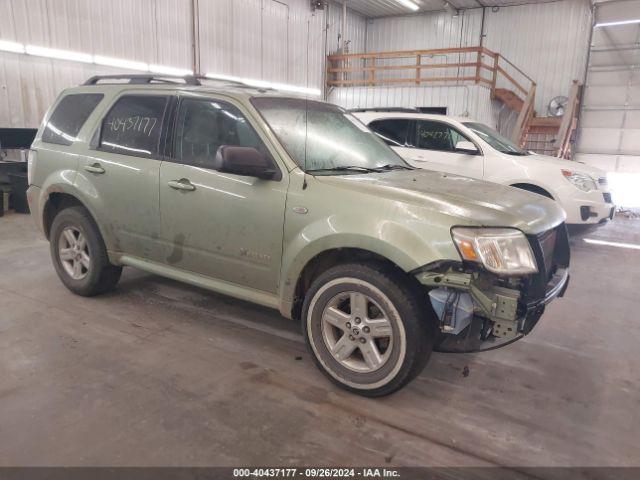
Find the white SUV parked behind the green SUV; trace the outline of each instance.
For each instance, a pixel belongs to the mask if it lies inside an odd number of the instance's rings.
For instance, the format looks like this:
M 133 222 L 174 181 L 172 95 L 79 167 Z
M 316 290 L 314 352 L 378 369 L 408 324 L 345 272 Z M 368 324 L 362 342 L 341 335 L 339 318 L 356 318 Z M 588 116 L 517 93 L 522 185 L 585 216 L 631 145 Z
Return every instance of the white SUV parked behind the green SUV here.
M 557 201 L 569 224 L 604 223 L 615 206 L 606 173 L 518 148 L 469 118 L 383 111 L 354 112 L 414 167 L 480 178 Z

